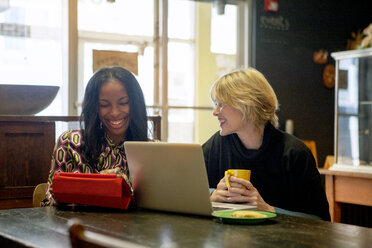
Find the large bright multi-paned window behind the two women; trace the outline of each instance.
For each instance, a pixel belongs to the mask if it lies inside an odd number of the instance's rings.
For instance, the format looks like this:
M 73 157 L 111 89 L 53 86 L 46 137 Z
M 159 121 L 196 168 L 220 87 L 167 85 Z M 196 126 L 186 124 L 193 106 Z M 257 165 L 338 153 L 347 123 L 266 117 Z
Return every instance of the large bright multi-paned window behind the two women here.
M 246 1 L 229 0 L 225 14 L 218 15 L 213 3 L 205 1 L 9 0 L 10 7 L 0 12 L 0 83 L 61 86 L 52 105 L 38 115 L 67 115 L 67 106 L 70 115 L 80 114 L 85 87 L 93 74 L 92 51 L 137 52 L 136 77 L 148 113 L 162 115 L 163 141 L 203 143 L 219 129 L 212 115 L 210 86 L 221 74 L 238 67 L 236 54 L 241 49 L 237 36 L 242 32 L 237 30 L 239 20 L 245 20 L 239 18 L 243 5 Z M 76 8 L 78 23 L 68 15 Z M 159 23 L 154 9 L 159 9 Z M 161 25 L 164 10 L 168 10 L 166 30 Z M 77 27 L 77 44 L 66 44 L 67 23 Z M 167 60 L 157 53 L 155 27 L 160 35 L 163 31 L 168 34 Z M 67 47 L 77 48 L 77 59 L 73 59 L 77 73 L 69 71 L 71 60 L 66 56 L 76 56 L 76 52 L 67 53 Z M 157 60 L 167 63 L 155 68 Z M 161 78 L 161 70 L 165 78 Z M 157 80 L 159 85 L 154 83 Z M 161 102 L 161 94 L 165 102 Z

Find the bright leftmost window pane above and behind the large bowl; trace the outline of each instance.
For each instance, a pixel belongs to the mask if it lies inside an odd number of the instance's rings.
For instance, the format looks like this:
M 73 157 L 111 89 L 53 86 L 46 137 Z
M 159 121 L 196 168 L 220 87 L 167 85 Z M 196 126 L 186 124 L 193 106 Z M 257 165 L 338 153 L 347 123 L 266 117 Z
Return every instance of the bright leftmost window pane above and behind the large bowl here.
M 62 1 L 10 1 L 0 12 L 0 83 L 62 86 Z M 59 91 L 40 114 L 62 113 Z

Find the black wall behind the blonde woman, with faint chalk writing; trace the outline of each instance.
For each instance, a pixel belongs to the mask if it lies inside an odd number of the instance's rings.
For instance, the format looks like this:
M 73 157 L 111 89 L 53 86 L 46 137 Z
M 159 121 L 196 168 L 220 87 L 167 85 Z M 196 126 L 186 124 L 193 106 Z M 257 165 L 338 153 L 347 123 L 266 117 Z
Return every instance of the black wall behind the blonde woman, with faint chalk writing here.
M 351 32 L 372 22 L 372 1 L 278 2 L 279 11 L 271 13 L 263 0 L 253 0 L 252 66 L 277 93 L 280 128 L 292 119 L 297 137 L 315 140 L 322 167 L 334 153 L 334 89 L 323 85 L 324 65 L 313 62 L 313 52 L 346 50 Z M 330 56 L 328 62 L 334 64 Z

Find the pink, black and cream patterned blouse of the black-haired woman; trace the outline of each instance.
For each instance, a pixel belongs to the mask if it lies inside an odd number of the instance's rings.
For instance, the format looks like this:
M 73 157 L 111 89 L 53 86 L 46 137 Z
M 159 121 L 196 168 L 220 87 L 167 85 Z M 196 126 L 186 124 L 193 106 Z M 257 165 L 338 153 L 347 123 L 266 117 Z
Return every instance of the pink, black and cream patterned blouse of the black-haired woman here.
M 80 130 L 65 131 L 59 136 L 52 155 L 47 192 L 41 204 L 42 206 L 55 205 L 55 199 L 51 194 L 52 180 L 54 174 L 59 172 L 105 173 L 107 170 L 111 170 L 114 173 L 123 175 L 128 185 L 132 188 L 124 152 L 124 140 L 120 145 L 116 146 L 110 137 L 105 135 L 101 154 L 93 165 L 87 163 L 87 159 L 82 153 L 83 146 L 84 141 Z

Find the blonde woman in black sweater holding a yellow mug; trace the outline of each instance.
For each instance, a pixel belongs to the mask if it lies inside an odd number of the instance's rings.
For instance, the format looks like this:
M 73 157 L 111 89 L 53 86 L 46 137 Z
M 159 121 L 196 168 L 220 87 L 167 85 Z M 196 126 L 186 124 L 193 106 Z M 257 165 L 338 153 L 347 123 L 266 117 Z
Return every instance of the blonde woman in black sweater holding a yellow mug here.
M 253 68 L 226 74 L 213 84 L 211 98 L 220 124 L 203 145 L 211 201 L 329 220 L 315 159 L 299 139 L 278 129 L 278 101 L 266 78 Z M 251 180 L 232 176 L 228 189 L 228 169 L 249 169 Z

